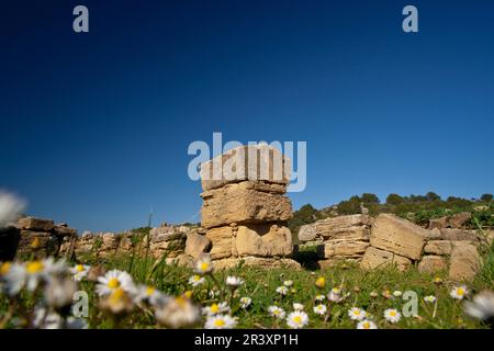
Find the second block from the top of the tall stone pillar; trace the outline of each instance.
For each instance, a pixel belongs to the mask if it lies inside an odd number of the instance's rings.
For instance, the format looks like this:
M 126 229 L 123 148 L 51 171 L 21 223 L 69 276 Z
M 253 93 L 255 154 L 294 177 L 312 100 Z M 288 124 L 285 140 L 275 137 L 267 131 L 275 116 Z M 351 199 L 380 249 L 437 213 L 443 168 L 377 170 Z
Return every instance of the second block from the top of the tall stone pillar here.
M 205 228 L 231 223 L 283 222 L 292 216 L 290 199 L 281 194 L 247 189 L 244 183 L 228 184 L 201 194 L 201 223 Z

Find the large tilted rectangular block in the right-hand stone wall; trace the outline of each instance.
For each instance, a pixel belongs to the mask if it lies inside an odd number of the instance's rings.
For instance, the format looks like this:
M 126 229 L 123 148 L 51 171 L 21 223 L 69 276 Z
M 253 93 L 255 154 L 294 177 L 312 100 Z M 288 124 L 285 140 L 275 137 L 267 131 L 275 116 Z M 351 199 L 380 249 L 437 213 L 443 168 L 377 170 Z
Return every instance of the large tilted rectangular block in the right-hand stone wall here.
M 370 244 L 374 248 L 418 260 L 427 230 L 390 214 L 380 214 L 372 225 Z

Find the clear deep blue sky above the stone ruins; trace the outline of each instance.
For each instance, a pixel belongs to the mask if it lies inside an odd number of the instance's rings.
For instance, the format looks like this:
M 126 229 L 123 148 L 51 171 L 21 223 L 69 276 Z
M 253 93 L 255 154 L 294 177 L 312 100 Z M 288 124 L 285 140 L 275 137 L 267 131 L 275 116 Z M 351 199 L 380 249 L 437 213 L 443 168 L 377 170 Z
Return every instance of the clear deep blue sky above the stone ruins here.
M 86 4 L 90 33 L 72 32 Z M 419 33 L 402 31 L 415 4 Z M 79 230 L 199 220 L 193 140 L 306 140 L 294 207 L 494 192 L 492 1 L 16 1 L 0 188 Z

